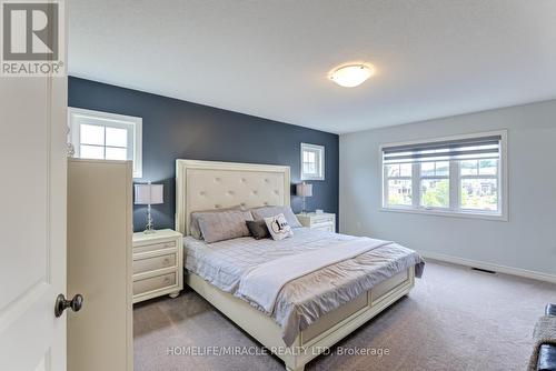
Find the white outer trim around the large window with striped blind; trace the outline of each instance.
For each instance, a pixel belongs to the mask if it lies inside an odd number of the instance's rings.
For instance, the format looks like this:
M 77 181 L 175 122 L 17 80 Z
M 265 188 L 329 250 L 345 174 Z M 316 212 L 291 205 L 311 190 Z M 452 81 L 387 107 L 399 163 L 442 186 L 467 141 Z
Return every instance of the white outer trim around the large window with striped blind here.
M 457 211 L 450 209 L 443 208 L 423 208 L 420 207 L 420 192 L 418 194 L 413 194 L 413 205 L 386 205 L 386 193 L 387 193 L 387 181 L 386 170 L 384 167 L 384 158 L 383 158 L 383 149 L 388 147 L 398 147 L 398 146 L 410 146 L 410 144 L 419 144 L 424 142 L 438 142 L 438 141 L 448 141 L 448 140 L 459 140 L 459 139 L 469 139 L 477 137 L 490 137 L 490 136 L 500 136 L 500 160 L 498 164 L 498 183 L 499 190 L 498 192 L 498 202 L 500 205 L 500 211 L 498 213 L 494 213 L 490 211 L 480 211 L 480 210 L 471 210 L 471 209 L 458 209 Z M 405 142 L 395 142 L 395 143 L 386 143 L 380 144 L 379 152 L 379 169 L 383 174 L 381 179 L 381 192 L 380 192 L 380 202 L 381 205 L 379 211 L 381 212 L 403 212 L 403 213 L 414 213 L 414 214 L 427 214 L 427 215 L 437 215 L 437 217 L 455 217 L 455 218 L 471 218 L 471 219 L 486 219 L 486 220 L 496 220 L 496 221 L 508 221 L 509 214 L 509 184 L 508 184 L 508 131 L 507 129 L 496 130 L 496 131 L 486 131 L 486 132 L 474 132 L 466 133 L 459 136 L 450 136 L 443 138 L 433 138 L 433 139 L 419 139 L 411 140 Z M 459 169 L 454 169 L 456 162 L 450 161 L 450 183 L 456 178 L 456 174 L 459 172 Z M 487 177 L 488 178 L 488 177 Z M 419 186 L 415 186 L 415 183 L 419 183 L 420 174 L 418 173 L 418 167 L 413 167 L 413 182 L 414 186 L 411 190 L 419 190 Z M 454 207 L 455 203 L 459 203 L 459 187 L 450 187 L 450 208 Z

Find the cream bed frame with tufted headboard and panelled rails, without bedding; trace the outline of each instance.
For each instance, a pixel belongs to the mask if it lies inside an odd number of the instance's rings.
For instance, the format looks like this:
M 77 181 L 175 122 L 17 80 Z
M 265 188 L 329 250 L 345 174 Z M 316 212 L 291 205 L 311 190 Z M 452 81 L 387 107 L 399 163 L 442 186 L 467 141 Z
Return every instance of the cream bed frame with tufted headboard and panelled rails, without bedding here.
M 190 234 L 193 211 L 289 205 L 289 167 L 280 166 L 177 160 L 176 230 Z M 247 302 L 193 273 L 186 273 L 186 283 L 280 358 L 287 370 L 302 371 L 311 359 L 407 294 L 415 283 L 415 270 L 411 267 L 319 318 L 291 347 L 284 343 L 280 327 Z

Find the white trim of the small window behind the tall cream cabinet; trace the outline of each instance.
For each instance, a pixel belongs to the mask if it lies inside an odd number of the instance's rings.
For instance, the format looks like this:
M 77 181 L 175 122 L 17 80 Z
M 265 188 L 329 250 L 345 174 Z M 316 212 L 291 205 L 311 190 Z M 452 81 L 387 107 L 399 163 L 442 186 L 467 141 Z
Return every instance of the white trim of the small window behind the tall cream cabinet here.
M 96 120 L 109 121 L 110 127 L 121 127 L 123 129 L 128 129 L 131 126 L 131 140 L 133 143 L 133 178 L 142 178 L 142 118 L 68 107 L 68 126 L 70 130 L 69 139 L 71 140 L 71 143 L 73 143 L 76 157 L 79 157 L 80 150 L 80 127 L 76 124 L 76 117 L 89 117 Z

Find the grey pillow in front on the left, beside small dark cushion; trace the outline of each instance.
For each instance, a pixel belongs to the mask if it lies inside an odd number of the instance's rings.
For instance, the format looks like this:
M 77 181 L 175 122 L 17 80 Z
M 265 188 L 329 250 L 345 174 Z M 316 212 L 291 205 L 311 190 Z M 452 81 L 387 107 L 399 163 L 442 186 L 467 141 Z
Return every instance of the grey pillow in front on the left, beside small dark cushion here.
M 208 212 L 199 217 L 199 229 L 208 243 L 231 240 L 249 235 L 248 220 L 252 220 L 249 211 Z

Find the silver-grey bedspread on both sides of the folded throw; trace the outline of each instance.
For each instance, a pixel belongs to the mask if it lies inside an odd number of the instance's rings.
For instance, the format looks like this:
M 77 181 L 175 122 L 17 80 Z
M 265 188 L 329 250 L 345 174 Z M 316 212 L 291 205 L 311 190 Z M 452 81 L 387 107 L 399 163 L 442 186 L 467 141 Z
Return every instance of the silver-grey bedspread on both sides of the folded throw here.
M 246 237 L 209 244 L 186 237 L 185 267 L 220 290 L 236 294 L 241 278 L 259 264 L 353 239 L 359 238 L 307 228 L 294 229 L 294 237 L 281 241 Z M 410 249 L 388 243 L 288 282 L 270 315 L 289 345 L 320 317 L 413 265 L 420 277 L 421 258 Z

